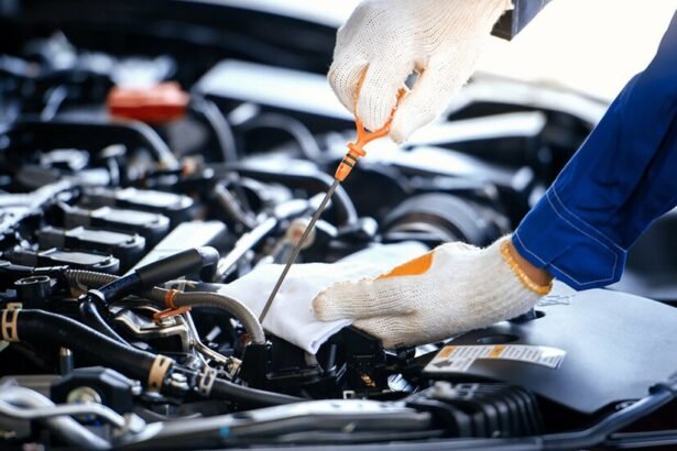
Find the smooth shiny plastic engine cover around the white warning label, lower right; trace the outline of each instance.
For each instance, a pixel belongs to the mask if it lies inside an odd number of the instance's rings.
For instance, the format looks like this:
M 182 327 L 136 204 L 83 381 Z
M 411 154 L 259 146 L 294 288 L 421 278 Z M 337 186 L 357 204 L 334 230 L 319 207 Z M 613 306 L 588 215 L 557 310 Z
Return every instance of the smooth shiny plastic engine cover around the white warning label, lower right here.
M 638 296 L 593 289 L 576 293 L 556 284 L 536 307 L 542 317 L 503 321 L 466 333 L 456 345 L 529 344 L 566 351 L 559 367 L 478 359 L 462 373 L 432 378 L 487 377 L 528 388 L 581 413 L 646 396 L 677 372 L 677 309 Z

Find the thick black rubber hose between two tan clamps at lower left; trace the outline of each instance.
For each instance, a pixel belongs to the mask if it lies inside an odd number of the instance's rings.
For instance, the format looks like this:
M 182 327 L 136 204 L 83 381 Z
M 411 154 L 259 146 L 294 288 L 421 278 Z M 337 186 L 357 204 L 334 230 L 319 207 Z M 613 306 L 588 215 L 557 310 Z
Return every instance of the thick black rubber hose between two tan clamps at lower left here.
M 155 360 L 150 352 L 122 344 L 70 318 L 43 310 L 19 310 L 17 332 L 19 341 L 68 348 L 144 384 Z

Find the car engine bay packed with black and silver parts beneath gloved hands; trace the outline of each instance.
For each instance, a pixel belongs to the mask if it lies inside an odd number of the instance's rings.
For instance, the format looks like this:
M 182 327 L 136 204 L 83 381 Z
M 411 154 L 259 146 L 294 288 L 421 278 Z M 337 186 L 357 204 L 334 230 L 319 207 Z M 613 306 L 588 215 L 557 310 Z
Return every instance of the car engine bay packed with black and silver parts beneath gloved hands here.
M 140 38 L 129 54 L 83 25 L 122 10 L 69 21 L 87 2 L 55 16 L 46 3 L 8 13 L 22 33 L 0 55 L 0 448 L 677 443 L 677 310 L 637 296 L 641 268 L 623 286 L 635 295 L 557 286 L 531 312 L 446 342 L 386 350 L 347 327 L 316 354 L 219 292 L 286 262 L 352 139 L 323 76 L 330 28 L 173 4 L 134 32 L 152 38 L 109 36 Z M 127 7 L 131 29 L 148 11 Z M 167 34 L 211 12 L 230 14 L 230 48 L 206 56 Z M 270 51 L 288 21 L 317 48 L 280 37 L 285 50 Z M 255 23 L 271 30 L 243 41 Z M 207 46 L 210 26 L 190 26 Z M 298 261 L 490 244 L 604 107 L 476 76 L 411 142 L 369 147 Z

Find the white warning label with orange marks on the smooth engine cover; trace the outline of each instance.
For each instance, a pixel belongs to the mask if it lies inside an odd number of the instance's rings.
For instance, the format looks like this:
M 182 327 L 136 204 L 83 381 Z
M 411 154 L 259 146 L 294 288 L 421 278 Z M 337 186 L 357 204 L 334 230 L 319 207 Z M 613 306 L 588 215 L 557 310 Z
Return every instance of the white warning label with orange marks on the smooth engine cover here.
M 424 369 L 427 373 L 465 373 L 478 359 L 514 360 L 557 369 L 566 351 L 529 344 L 450 344 L 441 349 Z

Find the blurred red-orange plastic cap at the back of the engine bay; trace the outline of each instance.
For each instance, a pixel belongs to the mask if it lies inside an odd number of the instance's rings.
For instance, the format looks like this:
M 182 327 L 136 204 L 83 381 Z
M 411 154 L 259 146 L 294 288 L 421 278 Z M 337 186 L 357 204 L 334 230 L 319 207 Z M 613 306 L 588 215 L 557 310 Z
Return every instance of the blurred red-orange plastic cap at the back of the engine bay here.
M 118 118 L 148 123 L 166 123 L 183 118 L 190 97 L 176 81 L 150 88 L 113 87 L 108 94 L 108 112 Z

